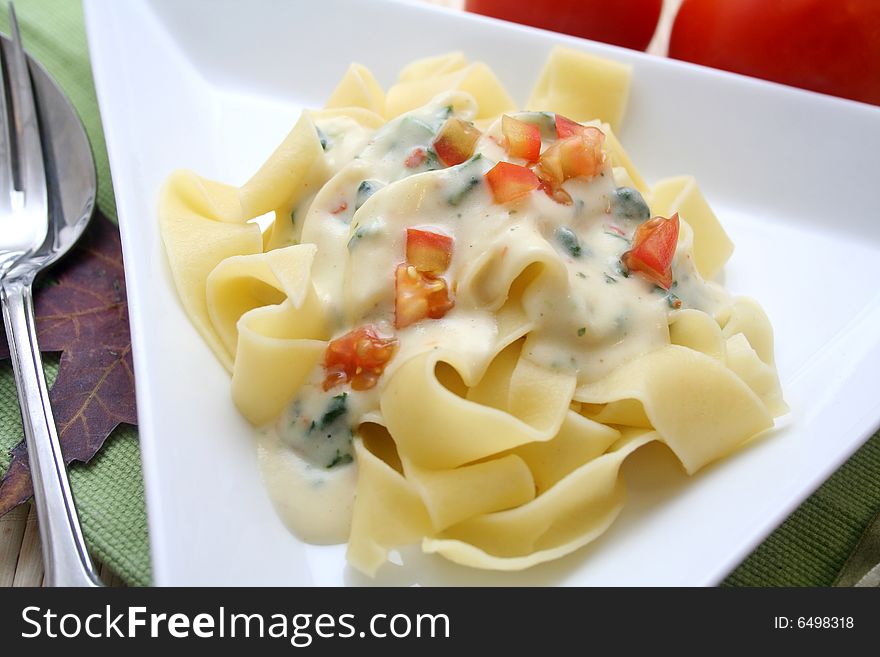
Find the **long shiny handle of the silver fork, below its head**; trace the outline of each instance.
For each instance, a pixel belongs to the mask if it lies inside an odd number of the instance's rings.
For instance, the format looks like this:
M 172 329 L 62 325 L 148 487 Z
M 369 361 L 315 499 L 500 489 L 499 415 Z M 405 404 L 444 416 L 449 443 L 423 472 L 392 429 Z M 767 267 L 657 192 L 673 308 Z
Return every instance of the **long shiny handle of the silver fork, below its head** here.
M 3 321 L 34 483 L 46 586 L 101 586 L 73 504 L 37 344 L 33 276 L 2 282 Z

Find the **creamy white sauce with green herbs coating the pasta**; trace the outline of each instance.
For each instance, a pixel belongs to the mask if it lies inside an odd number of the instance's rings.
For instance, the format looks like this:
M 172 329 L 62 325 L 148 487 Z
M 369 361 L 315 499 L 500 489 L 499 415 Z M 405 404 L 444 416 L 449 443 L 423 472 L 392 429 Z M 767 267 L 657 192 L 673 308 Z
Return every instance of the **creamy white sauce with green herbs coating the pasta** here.
M 337 173 L 309 200 L 298 235 L 318 245 L 315 288 L 334 319 L 333 337 L 373 324 L 399 346 L 378 385 L 366 391 L 347 385 L 324 391 L 319 364 L 277 423 L 261 433 L 272 498 L 305 540 L 347 538 L 357 470 L 352 440 L 362 422 L 381 421 L 384 380 L 413 355 L 441 346 L 478 369 L 497 342 L 495 312 L 522 263 L 539 263 L 522 297 L 529 322 L 524 354 L 576 374 L 579 383 L 668 344 L 678 308 L 716 315 L 729 305 L 720 286 L 700 278 L 691 249 L 681 243 L 669 291 L 626 271 L 621 256 L 650 211 L 637 191 L 615 184 L 610 164 L 590 180 L 567 180 L 569 205 L 541 190 L 494 203 L 484 174 L 501 160 L 524 164 L 507 157 L 497 122 L 471 159 L 444 168 L 432 149 L 434 137 L 448 117 L 469 120 L 473 112 L 467 96 L 452 93 L 369 139 L 347 140 L 341 120 L 319 125 L 328 153 L 340 150 L 333 160 Z M 552 143 L 553 115 L 515 116 L 539 125 L 542 148 Z M 342 165 L 344 157 L 350 161 Z M 407 227 L 454 238 L 443 276 L 452 290 L 460 284 L 461 293 L 441 319 L 395 330 L 394 269 L 406 259 Z

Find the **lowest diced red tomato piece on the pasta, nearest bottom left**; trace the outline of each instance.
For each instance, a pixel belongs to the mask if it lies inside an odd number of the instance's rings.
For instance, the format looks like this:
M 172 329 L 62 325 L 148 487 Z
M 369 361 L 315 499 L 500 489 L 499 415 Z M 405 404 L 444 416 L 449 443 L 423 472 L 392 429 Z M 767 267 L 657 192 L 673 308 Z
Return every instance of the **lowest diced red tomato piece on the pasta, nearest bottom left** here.
M 354 390 L 369 390 L 395 351 L 397 338 L 380 336 L 372 325 L 331 340 L 324 352 L 324 390 L 349 381 Z

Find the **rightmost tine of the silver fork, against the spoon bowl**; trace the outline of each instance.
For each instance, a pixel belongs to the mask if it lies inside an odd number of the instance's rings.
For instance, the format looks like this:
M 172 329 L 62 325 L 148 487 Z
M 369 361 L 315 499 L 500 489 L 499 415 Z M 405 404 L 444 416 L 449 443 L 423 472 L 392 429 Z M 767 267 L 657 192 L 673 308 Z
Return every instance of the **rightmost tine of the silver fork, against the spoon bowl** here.
M 37 122 L 37 107 L 31 85 L 27 58 L 21 45 L 15 7 L 9 3 L 9 26 L 12 32 L 12 53 L 7 61 L 12 116 L 15 126 L 15 147 L 18 161 L 16 189 L 25 194 L 25 203 L 37 209 L 46 208 L 46 171 L 43 147 Z

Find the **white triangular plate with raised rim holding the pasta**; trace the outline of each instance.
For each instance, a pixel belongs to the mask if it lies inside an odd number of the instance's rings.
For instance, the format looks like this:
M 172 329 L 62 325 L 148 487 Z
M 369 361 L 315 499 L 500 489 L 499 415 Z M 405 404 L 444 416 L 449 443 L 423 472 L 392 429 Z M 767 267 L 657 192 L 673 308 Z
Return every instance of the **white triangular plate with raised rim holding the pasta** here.
M 276 517 L 228 377 L 177 301 L 156 219 L 169 172 L 243 183 L 350 61 L 388 85 L 412 59 L 460 49 L 520 102 L 555 44 L 632 64 L 622 141 L 649 180 L 696 174 L 736 243 L 725 284 L 773 322 L 792 408 L 770 437 L 693 478 L 661 448 L 638 453 L 621 517 L 563 560 L 478 573 L 413 556 L 377 583 L 714 584 L 880 421 L 880 109 L 421 5 L 87 0 L 86 23 L 123 238 L 156 584 L 370 582 L 346 566 L 344 546 L 304 545 Z

